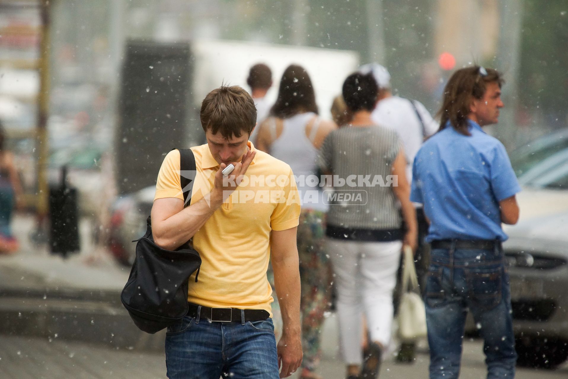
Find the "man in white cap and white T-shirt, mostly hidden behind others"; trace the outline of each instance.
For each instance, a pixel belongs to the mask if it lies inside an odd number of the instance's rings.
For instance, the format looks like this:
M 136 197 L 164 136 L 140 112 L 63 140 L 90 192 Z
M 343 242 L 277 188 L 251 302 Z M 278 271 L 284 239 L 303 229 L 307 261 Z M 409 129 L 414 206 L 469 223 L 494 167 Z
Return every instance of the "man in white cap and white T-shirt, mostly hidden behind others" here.
M 420 102 L 392 95 L 391 76 L 385 67 L 376 63 L 370 63 L 361 66 L 359 72 L 362 74 L 372 73 L 379 86 L 377 105 L 373 113 L 371 113 L 371 117 L 375 124 L 396 130 L 406 155 L 406 177 L 408 182 L 411 182 L 414 157 L 425 138 L 436 133 L 439 125 Z M 428 234 L 428 223 L 424 217 L 421 205 L 415 204 L 415 206 L 416 218 L 418 220 L 418 249 L 415 255 L 416 271 L 419 277 L 420 288 L 423 288 L 423 277 L 428 271 L 428 259 L 424 251 L 424 238 Z M 413 358 L 414 344 L 404 343 L 400 348 L 397 359 L 401 362 L 412 362 Z

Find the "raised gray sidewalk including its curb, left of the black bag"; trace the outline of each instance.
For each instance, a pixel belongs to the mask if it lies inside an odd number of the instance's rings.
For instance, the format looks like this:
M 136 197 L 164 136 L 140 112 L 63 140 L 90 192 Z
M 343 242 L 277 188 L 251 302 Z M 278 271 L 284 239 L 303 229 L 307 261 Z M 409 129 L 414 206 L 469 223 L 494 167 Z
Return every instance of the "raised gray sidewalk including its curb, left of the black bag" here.
M 63 259 L 28 241 L 32 217 L 16 217 L 20 251 L 0 255 L 0 334 L 163 349 L 165 331 L 145 334 L 120 302 L 129 267 L 119 266 L 90 241 L 89 220 L 80 224 L 82 249 Z

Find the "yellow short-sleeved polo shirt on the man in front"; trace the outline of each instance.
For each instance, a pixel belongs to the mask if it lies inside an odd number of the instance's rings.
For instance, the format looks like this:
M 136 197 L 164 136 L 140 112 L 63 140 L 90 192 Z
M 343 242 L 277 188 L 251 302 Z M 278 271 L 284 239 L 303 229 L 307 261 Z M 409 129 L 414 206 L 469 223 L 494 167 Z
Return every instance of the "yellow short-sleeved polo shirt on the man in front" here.
M 274 301 L 266 278 L 270 258 L 270 231 L 298 226 L 300 201 L 290 166 L 262 151 L 237 190 L 215 210 L 193 237 L 201 255 L 201 271 L 189 280 L 187 300 L 194 304 L 240 309 L 265 309 Z M 219 163 L 207 144 L 191 148 L 197 173 L 191 204 L 211 191 Z M 179 182 L 179 151 L 172 150 L 162 163 L 154 200 L 183 200 Z

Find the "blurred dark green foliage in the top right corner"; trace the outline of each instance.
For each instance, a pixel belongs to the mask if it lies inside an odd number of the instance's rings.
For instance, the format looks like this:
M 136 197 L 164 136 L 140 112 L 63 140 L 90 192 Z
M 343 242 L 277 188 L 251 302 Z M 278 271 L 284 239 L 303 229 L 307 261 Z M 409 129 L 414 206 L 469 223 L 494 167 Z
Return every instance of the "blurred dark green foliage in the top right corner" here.
M 525 0 L 520 105 L 540 108 L 549 124 L 566 126 L 568 117 L 568 3 Z M 556 121 L 558 119 L 558 121 Z

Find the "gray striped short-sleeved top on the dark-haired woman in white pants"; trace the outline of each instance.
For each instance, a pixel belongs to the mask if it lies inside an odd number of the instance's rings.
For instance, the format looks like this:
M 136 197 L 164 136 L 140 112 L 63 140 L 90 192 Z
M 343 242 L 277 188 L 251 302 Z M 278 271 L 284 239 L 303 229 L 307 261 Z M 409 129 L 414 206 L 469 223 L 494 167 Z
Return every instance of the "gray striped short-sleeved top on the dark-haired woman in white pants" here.
M 330 194 L 332 191 L 324 192 L 324 201 L 331 205 L 327 216 L 329 225 L 374 230 L 400 228 L 402 218 L 392 184 L 389 185 L 392 162 L 400 146 L 394 130 L 377 125 L 346 126 L 325 138 L 319 166 L 323 172 L 334 175 L 335 192 L 335 197 Z M 339 182 L 335 175 L 340 178 Z M 352 179 L 348 183 L 349 177 Z M 345 179 L 345 183 L 341 183 L 341 179 Z M 358 194 L 362 196 L 357 197 Z

